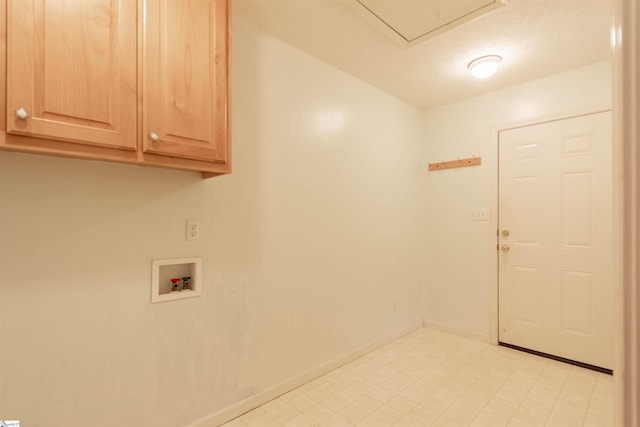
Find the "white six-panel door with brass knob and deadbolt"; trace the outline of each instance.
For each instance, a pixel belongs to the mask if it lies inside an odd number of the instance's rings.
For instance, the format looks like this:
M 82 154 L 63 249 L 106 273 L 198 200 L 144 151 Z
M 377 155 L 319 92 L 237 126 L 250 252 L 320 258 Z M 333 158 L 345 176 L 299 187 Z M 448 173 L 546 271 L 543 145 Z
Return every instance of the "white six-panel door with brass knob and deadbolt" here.
M 612 369 L 611 113 L 499 133 L 500 342 Z

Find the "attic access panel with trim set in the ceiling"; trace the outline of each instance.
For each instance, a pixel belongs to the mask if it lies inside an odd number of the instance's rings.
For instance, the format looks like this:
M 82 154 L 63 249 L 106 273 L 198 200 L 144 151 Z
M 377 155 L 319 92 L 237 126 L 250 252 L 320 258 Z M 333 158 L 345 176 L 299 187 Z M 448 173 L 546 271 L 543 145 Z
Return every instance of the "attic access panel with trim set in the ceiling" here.
M 508 0 L 343 0 L 395 42 L 414 46 Z

